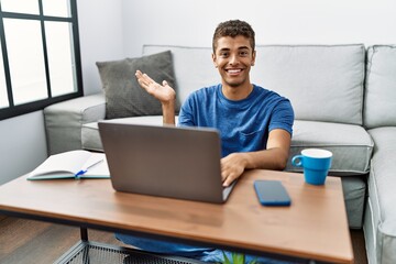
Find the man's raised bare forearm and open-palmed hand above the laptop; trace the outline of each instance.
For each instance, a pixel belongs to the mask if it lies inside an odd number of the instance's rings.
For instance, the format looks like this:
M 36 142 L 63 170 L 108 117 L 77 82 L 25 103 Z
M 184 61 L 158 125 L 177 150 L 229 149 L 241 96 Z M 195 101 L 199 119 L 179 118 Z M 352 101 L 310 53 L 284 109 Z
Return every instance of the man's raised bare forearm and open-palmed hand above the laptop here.
M 160 85 L 140 70 L 136 70 L 135 76 L 139 85 L 154 98 L 160 100 L 163 110 L 163 123 L 175 125 L 175 90 L 166 80 Z

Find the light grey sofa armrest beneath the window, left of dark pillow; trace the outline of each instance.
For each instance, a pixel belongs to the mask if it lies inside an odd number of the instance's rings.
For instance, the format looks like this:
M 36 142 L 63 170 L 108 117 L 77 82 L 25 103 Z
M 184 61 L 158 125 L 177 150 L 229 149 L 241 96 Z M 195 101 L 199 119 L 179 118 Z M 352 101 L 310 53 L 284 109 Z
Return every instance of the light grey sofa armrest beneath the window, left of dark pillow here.
M 81 127 L 106 117 L 106 99 L 102 92 L 80 97 L 44 109 L 48 154 L 80 150 Z

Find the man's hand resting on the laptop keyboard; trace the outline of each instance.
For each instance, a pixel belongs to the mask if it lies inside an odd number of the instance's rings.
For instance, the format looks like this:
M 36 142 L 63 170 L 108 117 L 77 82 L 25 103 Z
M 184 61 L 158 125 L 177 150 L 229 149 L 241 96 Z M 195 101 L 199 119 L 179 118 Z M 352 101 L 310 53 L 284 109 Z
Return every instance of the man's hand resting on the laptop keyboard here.
M 243 174 L 246 167 L 245 153 L 232 153 L 221 158 L 220 164 L 221 179 L 227 187 Z

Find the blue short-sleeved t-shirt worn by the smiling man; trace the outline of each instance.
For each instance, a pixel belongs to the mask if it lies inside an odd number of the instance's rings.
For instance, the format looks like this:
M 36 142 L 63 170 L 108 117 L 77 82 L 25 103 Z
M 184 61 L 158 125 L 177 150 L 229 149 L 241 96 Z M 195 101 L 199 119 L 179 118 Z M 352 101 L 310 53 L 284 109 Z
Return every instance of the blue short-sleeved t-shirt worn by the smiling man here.
M 288 99 L 253 85 L 248 98 L 233 101 L 222 95 L 221 87 L 193 92 L 182 106 L 178 124 L 218 129 L 222 156 L 265 150 L 274 129 L 293 133 L 294 111 Z

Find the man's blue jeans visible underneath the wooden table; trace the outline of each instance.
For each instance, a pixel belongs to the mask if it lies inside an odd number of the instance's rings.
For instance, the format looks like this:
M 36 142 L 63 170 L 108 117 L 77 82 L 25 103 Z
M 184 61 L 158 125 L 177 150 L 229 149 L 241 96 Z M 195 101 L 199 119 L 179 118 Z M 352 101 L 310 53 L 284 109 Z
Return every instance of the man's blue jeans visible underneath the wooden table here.
M 232 253 L 229 251 L 217 250 L 212 248 L 198 248 L 187 244 L 165 242 L 160 240 L 133 237 L 129 234 L 117 233 L 116 238 L 125 244 L 136 246 L 138 249 L 161 253 L 167 255 L 184 256 L 209 263 L 223 263 L 224 254 L 232 261 Z M 245 263 L 265 263 L 265 264 L 290 264 L 290 262 L 265 258 L 261 256 L 245 255 Z

